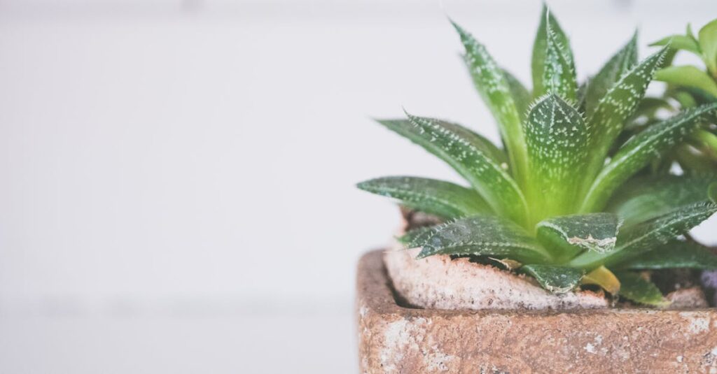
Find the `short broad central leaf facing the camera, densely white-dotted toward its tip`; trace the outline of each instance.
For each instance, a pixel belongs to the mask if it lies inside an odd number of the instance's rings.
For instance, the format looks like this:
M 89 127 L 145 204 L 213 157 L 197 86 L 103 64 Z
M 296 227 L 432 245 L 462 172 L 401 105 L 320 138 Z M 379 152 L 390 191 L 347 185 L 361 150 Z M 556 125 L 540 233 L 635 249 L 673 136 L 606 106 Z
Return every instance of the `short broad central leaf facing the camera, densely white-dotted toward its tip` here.
M 554 94 L 539 100 L 525 125 L 533 221 L 566 214 L 576 199 L 579 171 L 587 157 L 588 133 L 577 110 Z M 551 196 L 546 199 L 546 196 Z

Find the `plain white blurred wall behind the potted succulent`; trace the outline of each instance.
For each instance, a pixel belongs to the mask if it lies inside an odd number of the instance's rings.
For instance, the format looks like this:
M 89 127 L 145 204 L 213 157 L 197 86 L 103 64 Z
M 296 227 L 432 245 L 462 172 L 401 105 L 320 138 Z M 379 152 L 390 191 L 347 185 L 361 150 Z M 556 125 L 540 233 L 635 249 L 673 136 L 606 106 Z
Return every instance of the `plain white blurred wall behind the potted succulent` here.
M 550 4 L 581 79 L 717 16 Z M 446 14 L 528 82 L 540 7 L 0 0 L 0 373 L 357 373 L 354 267 L 399 214 L 354 183 L 458 180 L 370 118 L 498 140 Z

